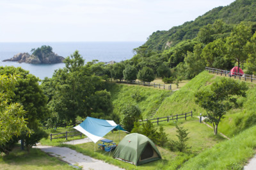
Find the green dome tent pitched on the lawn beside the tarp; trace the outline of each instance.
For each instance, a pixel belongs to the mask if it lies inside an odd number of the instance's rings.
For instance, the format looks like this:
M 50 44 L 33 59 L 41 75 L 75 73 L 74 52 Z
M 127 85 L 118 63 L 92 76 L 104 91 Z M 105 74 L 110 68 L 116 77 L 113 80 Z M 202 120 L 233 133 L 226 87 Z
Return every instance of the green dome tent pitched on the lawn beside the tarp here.
M 161 159 L 156 145 L 145 135 L 129 134 L 120 141 L 113 158 L 129 162 L 136 166 Z

